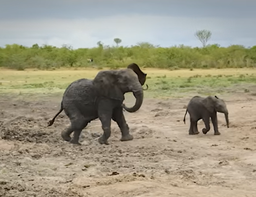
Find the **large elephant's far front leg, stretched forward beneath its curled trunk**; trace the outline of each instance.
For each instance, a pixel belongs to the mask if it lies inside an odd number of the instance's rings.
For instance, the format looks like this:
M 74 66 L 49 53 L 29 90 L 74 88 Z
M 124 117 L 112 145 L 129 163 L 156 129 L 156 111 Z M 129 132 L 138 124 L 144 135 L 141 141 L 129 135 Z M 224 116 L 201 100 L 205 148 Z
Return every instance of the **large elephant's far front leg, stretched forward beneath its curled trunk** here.
M 112 119 L 117 123 L 117 125 L 119 126 L 119 128 L 121 130 L 122 137 L 121 137 L 120 141 L 123 142 L 123 141 L 130 141 L 130 140 L 134 139 L 134 137 L 130 134 L 129 126 L 126 123 L 126 120 L 124 118 L 122 107 L 116 108 L 113 111 Z

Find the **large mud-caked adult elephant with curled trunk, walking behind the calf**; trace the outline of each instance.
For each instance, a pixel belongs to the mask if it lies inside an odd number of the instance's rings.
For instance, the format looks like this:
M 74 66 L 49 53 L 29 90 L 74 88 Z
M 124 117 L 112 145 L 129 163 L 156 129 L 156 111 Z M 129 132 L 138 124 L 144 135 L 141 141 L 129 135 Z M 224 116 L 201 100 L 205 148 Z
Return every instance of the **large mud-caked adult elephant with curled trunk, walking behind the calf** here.
M 124 93 L 133 92 L 136 102 L 133 107 L 122 106 Z M 79 79 L 72 82 L 65 90 L 61 109 L 48 122 L 51 126 L 61 111 L 70 118 L 70 126 L 62 131 L 65 141 L 80 145 L 79 137 L 89 122 L 99 118 L 104 131 L 99 143 L 108 144 L 111 136 L 111 119 L 116 121 L 122 137 L 121 141 L 133 140 L 123 115 L 122 107 L 128 112 L 140 109 L 143 103 L 143 89 L 137 74 L 131 69 L 99 71 L 93 80 Z M 70 134 L 74 131 L 71 139 Z

